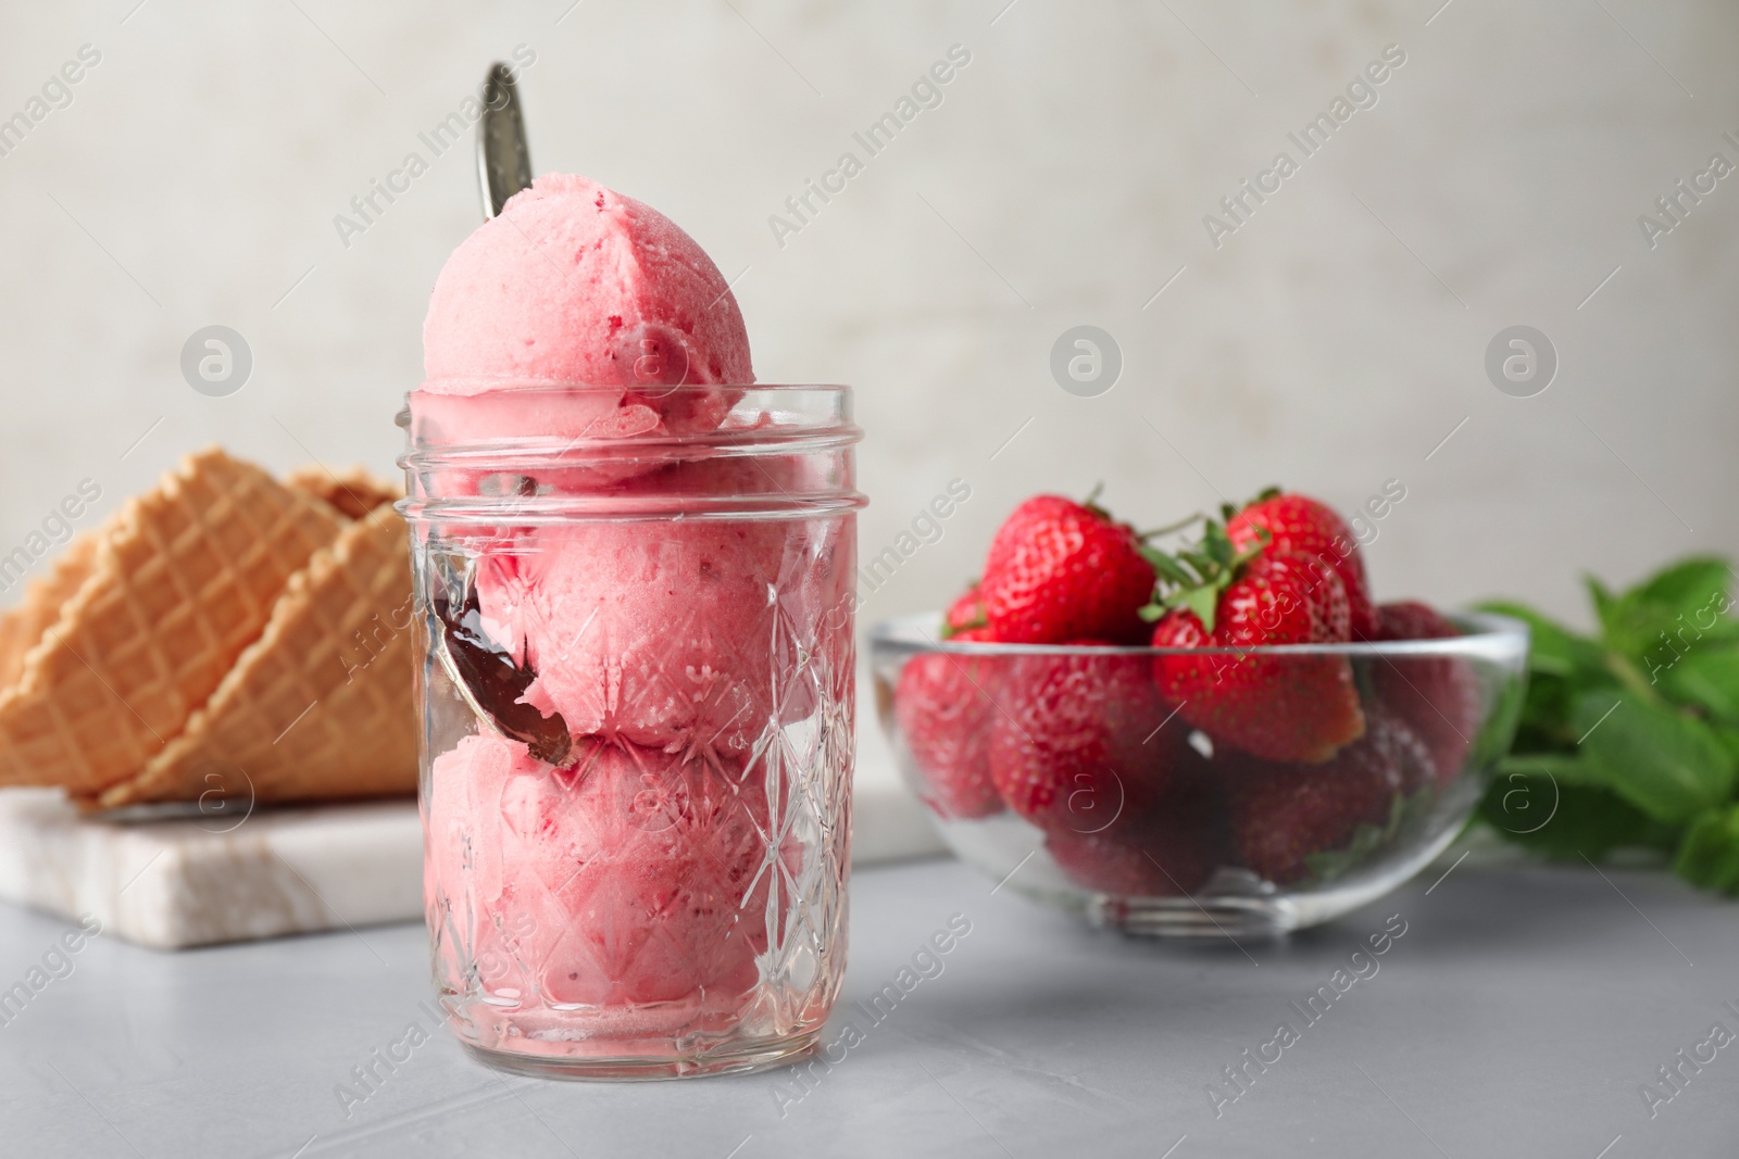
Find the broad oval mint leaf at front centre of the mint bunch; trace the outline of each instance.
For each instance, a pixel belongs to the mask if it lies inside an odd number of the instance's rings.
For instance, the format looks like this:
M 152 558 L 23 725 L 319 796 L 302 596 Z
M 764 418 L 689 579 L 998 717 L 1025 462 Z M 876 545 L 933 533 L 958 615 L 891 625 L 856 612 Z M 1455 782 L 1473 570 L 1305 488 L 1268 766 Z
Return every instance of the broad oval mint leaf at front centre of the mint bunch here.
M 1572 725 L 1607 787 L 1654 820 L 1685 822 L 1732 792 L 1739 761 L 1687 712 L 1595 690 L 1577 700 Z

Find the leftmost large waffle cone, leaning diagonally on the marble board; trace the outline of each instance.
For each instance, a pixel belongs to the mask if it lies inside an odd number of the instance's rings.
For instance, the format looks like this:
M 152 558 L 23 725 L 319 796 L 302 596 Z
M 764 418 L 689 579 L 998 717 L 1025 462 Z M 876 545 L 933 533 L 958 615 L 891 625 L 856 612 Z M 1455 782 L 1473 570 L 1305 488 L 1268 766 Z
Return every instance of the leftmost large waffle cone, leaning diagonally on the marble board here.
M 89 798 L 136 775 L 259 638 L 344 518 L 221 450 L 129 500 L 0 693 L 0 785 Z

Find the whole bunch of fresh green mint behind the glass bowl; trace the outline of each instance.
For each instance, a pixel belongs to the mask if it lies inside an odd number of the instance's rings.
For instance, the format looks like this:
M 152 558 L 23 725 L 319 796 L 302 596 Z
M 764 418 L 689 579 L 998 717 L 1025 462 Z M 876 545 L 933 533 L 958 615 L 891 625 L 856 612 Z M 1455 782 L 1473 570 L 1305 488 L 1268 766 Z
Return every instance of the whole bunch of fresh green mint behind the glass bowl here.
M 1696 556 L 1614 593 L 1588 579 L 1598 631 L 1516 603 L 1532 629 L 1511 754 L 1480 815 L 1544 857 L 1673 855 L 1680 878 L 1739 897 L 1739 617 L 1732 565 Z

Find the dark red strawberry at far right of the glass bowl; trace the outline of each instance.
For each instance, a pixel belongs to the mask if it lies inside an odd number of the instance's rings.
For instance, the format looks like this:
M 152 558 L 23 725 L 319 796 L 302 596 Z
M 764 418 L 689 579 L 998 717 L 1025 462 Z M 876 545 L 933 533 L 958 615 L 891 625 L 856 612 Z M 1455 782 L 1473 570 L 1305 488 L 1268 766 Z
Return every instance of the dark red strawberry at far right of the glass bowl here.
M 1423 603 L 1377 605 L 1377 639 L 1449 639 L 1461 629 Z M 1438 784 L 1461 773 L 1480 732 L 1480 678 L 1459 657 L 1393 657 L 1372 664 L 1377 699 L 1431 751 Z

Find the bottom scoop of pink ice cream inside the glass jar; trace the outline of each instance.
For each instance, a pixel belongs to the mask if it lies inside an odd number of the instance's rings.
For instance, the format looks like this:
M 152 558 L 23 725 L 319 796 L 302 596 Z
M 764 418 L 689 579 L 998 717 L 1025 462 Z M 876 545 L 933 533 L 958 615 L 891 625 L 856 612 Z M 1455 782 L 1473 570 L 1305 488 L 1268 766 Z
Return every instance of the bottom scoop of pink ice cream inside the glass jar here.
M 449 911 L 470 928 L 436 930 L 436 952 L 464 945 L 522 1032 L 537 1036 L 532 996 L 626 1036 L 649 1018 L 704 1029 L 755 987 L 783 897 L 758 780 L 631 744 L 588 742 L 551 770 L 497 737 L 466 737 L 431 780 L 431 893 L 475 900 Z

